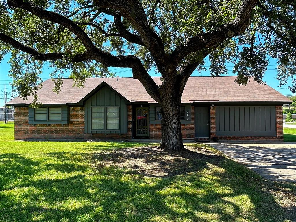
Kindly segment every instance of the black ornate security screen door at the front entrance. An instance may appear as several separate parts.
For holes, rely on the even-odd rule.
[[[136,136],[149,136],[148,108],[136,108]]]

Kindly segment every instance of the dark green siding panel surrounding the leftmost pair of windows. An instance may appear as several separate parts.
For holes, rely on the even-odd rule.
[[[28,108],[29,124],[67,124],[69,123],[69,111],[68,106],[42,106],[46,108],[47,120],[34,120],[34,109]],[[61,108],[61,120],[49,120],[48,108],[49,107],[60,107]]]

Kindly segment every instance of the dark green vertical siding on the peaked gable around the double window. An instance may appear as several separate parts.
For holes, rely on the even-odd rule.
[[[126,100],[109,87],[103,86],[85,105],[85,132],[91,134],[124,134],[127,133],[127,106]],[[91,107],[104,108],[104,130],[91,130]],[[106,130],[106,107],[119,107],[119,130]]]

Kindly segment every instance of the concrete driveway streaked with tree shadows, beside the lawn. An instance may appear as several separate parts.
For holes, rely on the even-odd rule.
[[[263,177],[296,182],[296,143],[209,143]]]

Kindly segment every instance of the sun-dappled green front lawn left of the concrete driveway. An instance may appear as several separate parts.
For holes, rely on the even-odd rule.
[[[277,203],[266,180],[206,145],[191,145],[205,151],[200,158],[171,155],[187,171],[173,172],[168,160],[163,164],[172,166],[171,172],[152,176],[133,166],[102,164],[102,154],[147,144],[14,141],[13,126],[0,123],[0,221],[295,219]],[[110,161],[121,163],[123,155]]]

